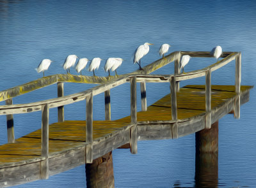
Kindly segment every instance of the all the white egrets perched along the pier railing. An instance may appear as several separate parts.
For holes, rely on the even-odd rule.
[[[148,54],[149,52],[149,46],[153,45],[150,43],[144,43],[144,45],[140,45],[140,47],[138,47],[134,53],[134,59],[133,62],[134,64],[137,63],[141,68],[141,58],[144,57],[145,55]],[[171,46],[168,44],[163,44],[161,45],[160,49],[159,49],[159,55],[163,55],[164,58],[164,54],[166,54],[169,50]],[[212,48],[211,51],[211,56],[215,57],[218,61],[218,58],[221,56],[222,54],[222,48],[220,46],[214,47]],[[74,66],[76,64],[76,61],[79,57],[77,57],[77,55],[68,55],[68,57],[66,58],[64,64],[63,64],[63,69],[67,70],[67,73],[70,74],[70,68],[72,66]],[[180,59],[180,69],[182,69],[182,73],[184,73],[184,66],[186,66],[186,64],[188,64],[190,59],[189,55],[182,55],[181,59]],[[103,59],[100,59],[99,57],[95,57],[92,59],[92,61],[90,62],[90,66],[89,66],[89,71],[93,71],[93,76],[95,76],[95,70],[99,69],[100,66],[100,61],[102,61]],[[76,64],[76,71],[77,73],[81,73],[81,71],[86,67],[86,65],[88,64],[90,60],[87,58],[81,58],[79,59],[79,61]],[[124,61],[124,59],[119,58],[119,57],[109,57],[106,61],[105,64],[105,71],[108,71],[109,76],[110,76],[110,71],[115,71],[116,73],[116,69],[118,67],[121,66],[122,62]],[[51,65],[51,61],[50,59],[43,59],[40,64],[38,65],[38,68],[36,68],[36,71],[38,73],[43,72],[44,75],[44,71],[46,71],[49,66]],[[82,75],[82,73],[81,73]]]

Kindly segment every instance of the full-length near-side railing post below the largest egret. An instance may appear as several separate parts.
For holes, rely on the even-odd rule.
[[[131,127],[131,153],[137,153],[137,104],[136,104],[136,76],[130,78],[131,86],[131,124],[134,126]]]

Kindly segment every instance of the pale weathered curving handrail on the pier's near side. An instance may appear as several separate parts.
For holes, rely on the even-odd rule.
[[[183,73],[180,75],[175,75],[175,81],[178,82],[181,80],[188,80],[192,78],[198,78],[200,76],[205,76],[205,72],[209,68],[211,68],[211,71],[215,71],[216,69],[219,69],[222,66],[225,66],[226,64],[228,64],[228,62],[236,59],[236,55],[239,54],[239,52],[232,52],[232,53],[228,52],[228,54],[229,55],[227,55],[227,57],[225,57],[224,59],[221,59],[220,61],[214,64],[211,64],[210,66],[207,66],[205,68],[198,69],[196,71],[190,71],[186,74]],[[114,78],[113,80],[106,82],[104,85],[103,84],[97,85],[91,89],[84,90],[82,92],[77,92],[75,94],[70,94],[68,96],[62,96],[59,98],[52,98],[52,99],[37,101],[33,103],[25,103],[25,104],[17,104],[17,105],[1,105],[0,115],[36,112],[36,111],[42,110],[42,105],[44,104],[49,104],[49,108],[56,108],[58,106],[69,105],[71,103],[75,103],[85,99],[86,96],[90,94],[90,92],[93,92],[93,96],[95,96],[108,89],[111,89],[118,85],[122,85],[125,82],[129,82],[129,78],[133,76],[137,77],[137,82],[141,82],[141,80],[145,80],[145,82],[159,82],[159,80],[162,80],[162,82],[169,82],[173,74],[172,75],[134,75],[134,73],[130,73],[127,75],[120,75],[117,78]],[[150,78],[150,80],[147,78]]]

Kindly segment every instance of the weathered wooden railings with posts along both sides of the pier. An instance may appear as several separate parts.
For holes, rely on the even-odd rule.
[[[180,74],[179,61],[182,55],[191,55],[191,57],[211,57],[210,52],[173,52],[167,55],[165,59],[159,59],[148,66],[145,66],[143,71],[134,71],[126,75],[113,76],[109,78],[105,77],[93,77],[93,76],[74,76],[74,75],[54,75],[49,78],[40,78],[39,80],[47,80],[47,82],[39,82],[38,80],[14,87],[9,90],[0,92],[2,100],[6,101],[6,105],[0,106],[0,115],[6,115],[7,127],[8,127],[8,142],[14,142],[13,131],[13,114],[15,113],[30,113],[36,111],[42,111],[42,157],[45,161],[42,163],[47,172],[47,158],[49,155],[49,108],[58,108],[58,122],[64,121],[64,108],[63,106],[76,103],[78,101],[86,101],[86,163],[92,163],[93,152],[93,96],[104,92],[105,97],[105,119],[111,120],[111,103],[110,103],[110,90],[114,87],[118,87],[126,82],[130,82],[131,87],[131,152],[136,154],[137,152],[137,140],[136,140],[136,125],[137,125],[137,104],[136,104],[136,82],[140,82],[141,89],[141,109],[147,111],[147,98],[146,98],[146,82],[170,82],[171,92],[171,106],[172,106],[172,120],[174,124],[177,124],[177,92],[179,92],[179,82],[182,80],[188,80],[192,78],[198,78],[205,76],[205,128],[211,128],[211,73],[216,69],[221,68],[228,64],[228,62],[236,59],[236,104],[234,106],[234,115],[239,118],[240,115],[240,85],[241,85],[241,52],[223,52],[220,61],[212,64],[203,69],[191,71],[188,73]],[[175,69],[173,75],[148,75],[152,71],[163,67],[164,65],[175,61]],[[49,81],[53,80],[53,81]],[[75,81],[74,81],[75,80]],[[90,81],[90,82],[89,82]],[[79,82],[79,83],[104,83],[97,85],[92,89],[84,90],[83,92],[77,92],[76,94],[70,94],[63,96],[63,82]],[[39,84],[40,83],[40,84]],[[35,103],[13,105],[12,98],[30,92],[53,83],[58,83],[58,98],[47,99],[44,101],[38,101]],[[22,88],[22,89],[20,89]],[[24,89],[24,88],[27,88]],[[19,90],[20,89],[20,90]],[[175,127],[175,126],[173,126]],[[47,173],[42,178],[47,178]]]

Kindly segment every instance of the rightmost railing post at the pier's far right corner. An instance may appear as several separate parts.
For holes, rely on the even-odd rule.
[[[241,87],[241,52],[236,55],[236,102],[234,117],[240,118],[240,87]]]

